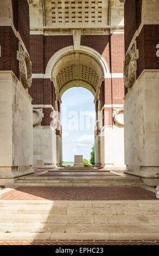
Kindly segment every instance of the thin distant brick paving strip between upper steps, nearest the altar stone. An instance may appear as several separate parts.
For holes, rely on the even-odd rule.
[[[92,172],[54,172],[54,173],[44,173],[44,174],[40,174],[40,177],[106,177],[106,176],[120,176],[117,174],[113,174],[113,173],[92,173]]]

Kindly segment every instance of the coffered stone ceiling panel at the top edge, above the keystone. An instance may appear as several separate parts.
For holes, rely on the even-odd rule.
[[[106,25],[107,0],[52,0],[52,24]]]

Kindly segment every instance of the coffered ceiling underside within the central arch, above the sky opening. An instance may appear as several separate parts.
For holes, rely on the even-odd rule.
[[[86,81],[96,90],[99,82],[99,76],[96,71],[86,65],[69,65],[62,69],[56,77],[56,83],[59,91],[63,85],[73,80]]]

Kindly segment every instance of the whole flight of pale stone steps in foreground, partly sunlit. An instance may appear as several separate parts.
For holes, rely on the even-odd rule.
[[[158,240],[158,200],[1,200],[0,239]]]

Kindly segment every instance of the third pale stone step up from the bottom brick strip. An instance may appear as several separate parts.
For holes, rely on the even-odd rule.
[[[39,212],[39,211],[38,211]],[[141,224],[141,223],[159,223],[159,216],[152,215],[63,215],[63,214],[46,214],[46,212],[39,214],[5,214],[0,213],[0,223],[66,223],[66,224]]]

